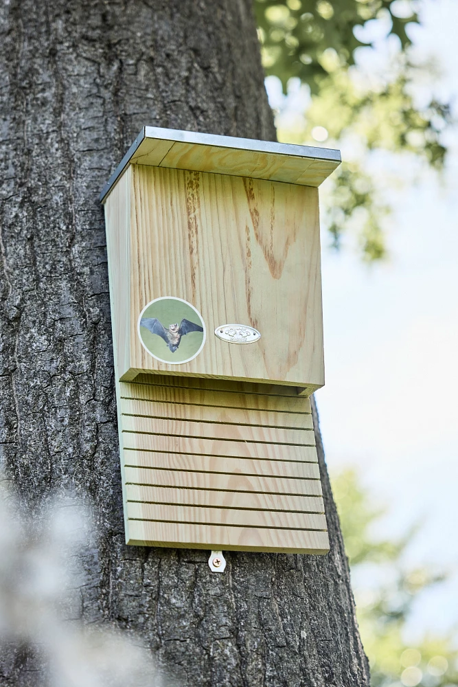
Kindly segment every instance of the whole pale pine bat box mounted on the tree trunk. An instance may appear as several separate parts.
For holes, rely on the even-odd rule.
[[[324,383],[316,187],[339,161],[145,127],[108,181],[128,543],[328,550],[307,396]]]

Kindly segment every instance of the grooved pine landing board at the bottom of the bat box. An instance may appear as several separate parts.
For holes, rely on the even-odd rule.
[[[117,383],[128,543],[327,552],[310,402],[266,387]]]

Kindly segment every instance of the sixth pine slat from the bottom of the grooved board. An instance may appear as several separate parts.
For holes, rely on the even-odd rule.
[[[312,435],[312,432],[310,432]],[[261,444],[225,439],[198,439],[183,436],[122,433],[124,448],[163,453],[198,453],[200,455],[233,455],[235,458],[273,458],[304,460],[304,447],[291,444]],[[314,441],[312,436],[310,442]]]

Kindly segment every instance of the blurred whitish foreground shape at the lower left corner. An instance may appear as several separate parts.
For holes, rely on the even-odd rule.
[[[23,663],[33,657],[27,684],[37,687],[165,687],[140,641],[75,618],[80,553],[95,543],[91,518],[76,499],[46,510],[28,519],[0,485],[0,651],[12,671],[0,682],[14,680],[22,654]]]

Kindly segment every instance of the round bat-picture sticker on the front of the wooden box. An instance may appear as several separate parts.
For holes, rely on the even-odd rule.
[[[181,365],[198,355],[205,343],[201,313],[181,298],[163,296],[148,303],[138,319],[144,348],[161,363]]]

